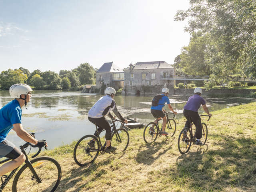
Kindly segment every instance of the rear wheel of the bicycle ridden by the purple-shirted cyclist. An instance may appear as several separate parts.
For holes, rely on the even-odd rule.
[[[191,134],[189,128],[184,128],[180,132],[179,138],[178,138],[178,149],[181,154],[184,154],[188,152],[191,146]]]

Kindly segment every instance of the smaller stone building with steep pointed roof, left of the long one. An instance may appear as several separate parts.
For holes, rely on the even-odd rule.
[[[116,90],[124,87],[124,71],[113,62],[104,63],[96,72],[96,88],[103,93],[106,87]]]

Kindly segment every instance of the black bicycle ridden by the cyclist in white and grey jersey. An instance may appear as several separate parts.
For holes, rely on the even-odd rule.
[[[111,131],[110,144],[111,146],[116,147],[115,153],[120,151],[125,151],[126,148],[128,147],[129,140],[130,140],[128,131],[125,128],[122,128],[124,126],[122,122],[121,122],[122,126],[120,126],[119,129],[116,129],[115,122],[117,121],[121,122],[120,120],[117,120],[117,119],[112,120],[112,122],[110,122],[110,124],[112,124],[110,127],[113,127]],[[106,152],[106,142],[102,146],[102,143],[100,141],[100,133],[103,132],[104,130],[99,132],[98,126],[96,126],[96,131],[97,131],[96,136],[94,135],[83,136],[76,143],[73,156],[76,164],[78,164],[81,167],[87,166],[88,164],[94,162],[99,152],[101,154],[104,154]],[[91,140],[95,141],[95,146],[90,146]]]

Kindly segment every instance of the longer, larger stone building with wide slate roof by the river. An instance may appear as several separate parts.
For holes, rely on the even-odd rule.
[[[124,91],[122,94],[152,95],[167,87],[173,93],[175,69],[165,61],[137,62],[124,68]]]

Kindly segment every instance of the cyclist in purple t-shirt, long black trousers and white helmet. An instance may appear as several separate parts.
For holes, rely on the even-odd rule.
[[[201,118],[198,114],[198,109],[200,108],[200,106],[202,105],[204,111],[210,117],[212,117],[212,114],[209,113],[209,110],[206,107],[206,102],[201,97],[201,94],[202,94],[202,88],[196,87],[194,90],[194,95],[188,98],[188,102],[184,106],[184,110],[183,110],[183,115],[187,119],[185,127],[189,128],[190,118],[196,126],[196,134],[195,134],[196,141],[194,142],[194,144],[197,144],[197,145],[202,145],[202,142],[200,141],[200,139],[202,138],[202,124],[201,124]]]

